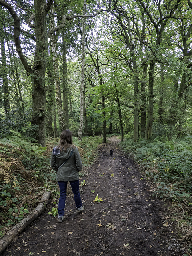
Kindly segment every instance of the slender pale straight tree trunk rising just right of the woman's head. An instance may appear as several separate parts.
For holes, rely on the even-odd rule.
[[[86,13],[86,0],[83,3],[83,14]],[[81,87],[80,87],[80,126],[78,140],[82,140],[83,114],[84,114],[84,74],[85,74],[85,18],[82,23],[82,64],[81,64]]]

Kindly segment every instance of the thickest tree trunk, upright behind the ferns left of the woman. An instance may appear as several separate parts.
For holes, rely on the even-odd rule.
[[[36,47],[32,77],[32,124],[38,125],[38,142],[44,147],[46,136],[45,71],[48,55],[46,0],[34,0]]]

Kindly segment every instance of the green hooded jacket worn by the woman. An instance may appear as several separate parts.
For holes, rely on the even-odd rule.
[[[59,154],[57,154],[57,151],[58,150],[52,151],[51,162],[50,162],[52,169],[57,171],[56,180],[57,181],[78,180],[79,179],[78,172],[82,169],[82,161],[81,161],[78,148],[75,147],[75,149],[73,149],[72,147],[70,147],[67,149],[67,152],[59,151]],[[74,152],[71,154],[71,151],[74,151]],[[66,159],[68,159],[66,163],[63,166],[61,166]],[[59,168],[59,166],[61,167]]]

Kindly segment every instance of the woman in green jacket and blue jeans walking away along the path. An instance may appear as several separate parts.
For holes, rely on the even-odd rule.
[[[70,130],[64,130],[61,133],[58,146],[53,148],[51,155],[51,167],[57,171],[56,180],[59,183],[60,192],[58,222],[62,222],[64,219],[68,181],[74,194],[76,213],[84,210],[79,193],[78,173],[82,169],[82,162],[78,148],[72,143],[72,132]]]

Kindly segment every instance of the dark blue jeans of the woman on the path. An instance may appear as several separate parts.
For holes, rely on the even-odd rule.
[[[65,213],[65,200],[67,196],[67,181],[58,181],[58,183],[60,192],[58,214],[59,216],[63,216]],[[79,180],[70,181],[70,185],[74,194],[76,207],[81,207],[82,202],[79,193]]]

